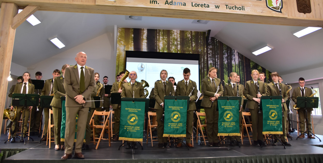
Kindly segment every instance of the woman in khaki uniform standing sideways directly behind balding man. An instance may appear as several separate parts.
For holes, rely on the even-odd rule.
[[[62,102],[60,97],[65,97],[65,89],[64,89],[64,76],[65,69],[69,67],[69,64],[65,64],[62,67],[62,76],[55,77],[53,83],[53,92],[54,97],[50,106],[53,109],[53,121],[54,121],[54,138],[55,138],[55,150],[64,150],[64,142],[60,141],[60,129],[62,124]]]

